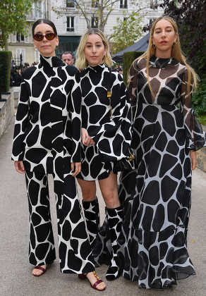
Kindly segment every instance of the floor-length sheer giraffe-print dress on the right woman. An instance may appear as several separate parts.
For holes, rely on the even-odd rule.
[[[119,198],[125,207],[119,243],[123,277],[139,288],[164,288],[195,274],[186,247],[190,214],[190,149],[200,149],[205,135],[186,94],[186,66],[174,58],[150,58],[131,67],[132,147],[138,168],[121,173]],[[181,104],[181,111],[176,106]]]

